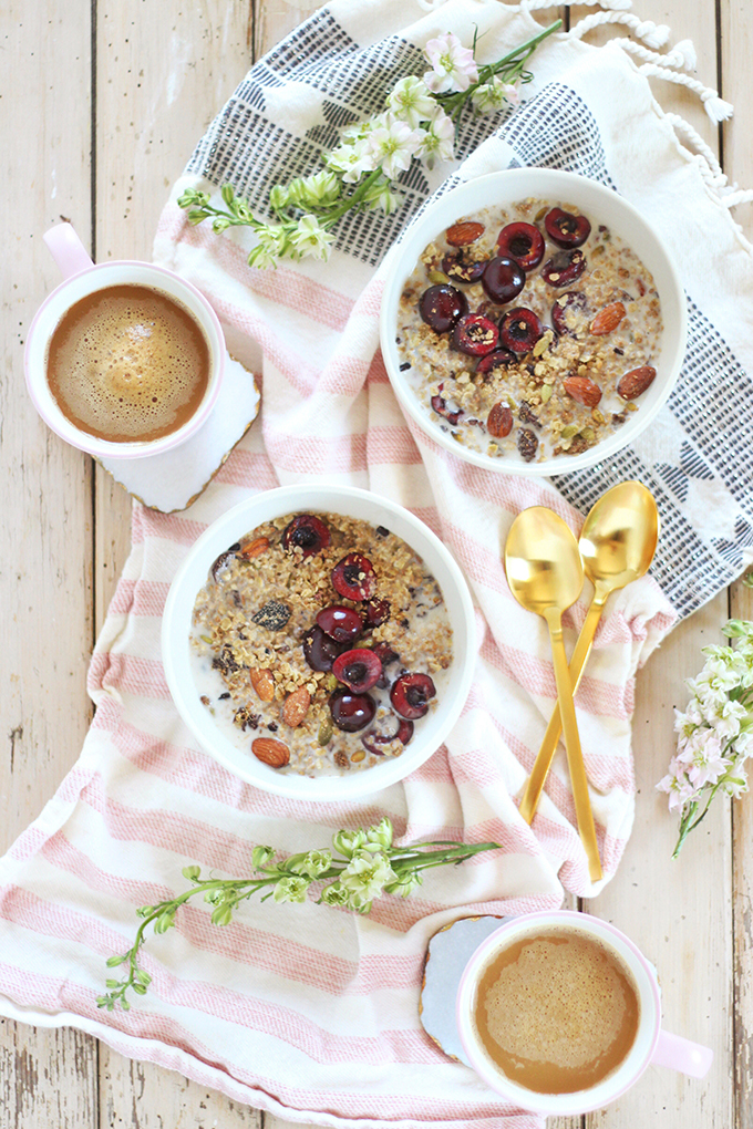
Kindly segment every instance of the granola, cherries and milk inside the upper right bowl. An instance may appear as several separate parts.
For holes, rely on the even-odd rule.
[[[528,199],[461,218],[424,248],[396,342],[414,394],[458,443],[542,462],[639,410],[662,329],[654,279],[619,236]]]

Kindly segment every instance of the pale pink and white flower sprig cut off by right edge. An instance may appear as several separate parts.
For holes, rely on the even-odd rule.
[[[717,793],[736,798],[747,791],[744,763],[753,753],[753,622],[729,620],[724,628],[737,646],[702,647],[706,665],[686,681],[691,699],[675,710],[677,750],[656,786],[680,813],[673,858],[697,828]]]

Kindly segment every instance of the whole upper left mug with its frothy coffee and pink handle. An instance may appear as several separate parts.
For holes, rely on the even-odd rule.
[[[186,279],[152,263],[95,264],[70,224],[44,235],[64,279],[24,350],[43,420],[97,458],[159,455],[209,420],[225,368],[217,314]]]

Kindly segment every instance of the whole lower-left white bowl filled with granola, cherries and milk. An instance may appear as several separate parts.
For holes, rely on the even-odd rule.
[[[240,502],[192,546],[163,618],[178,714],[249,784],[332,800],[443,743],[475,657],[455,560],[409,510],[348,487]]]

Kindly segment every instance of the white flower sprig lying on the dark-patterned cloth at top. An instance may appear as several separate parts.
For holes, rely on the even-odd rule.
[[[272,220],[255,217],[230,184],[220,189],[225,207],[212,204],[211,195],[200,189],[186,189],[178,205],[187,210],[191,224],[211,219],[218,234],[229,227],[252,228],[256,243],[249,266],[274,266],[281,259],[326,260],[332,228],[345,212],[379,209],[389,215],[400,204],[393,182],[412,160],[432,168],[452,159],[465,105],[476,114],[517,105],[519,84],[533,78],[525,69],[527,60],[561,26],[555,20],[504,59],[483,65],[475,60],[475,34],[471,47],[452,32],[430,40],[424,47],[429,69],[422,77],[401,78],[387,94],[383,113],[343,130],[338,148],[323,154],[322,170],[274,185]]]

